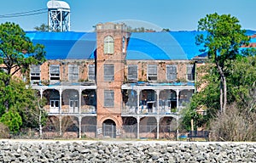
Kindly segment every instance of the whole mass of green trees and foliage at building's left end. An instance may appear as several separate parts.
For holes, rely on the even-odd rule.
[[[38,95],[15,75],[26,76],[30,65],[44,63],[44,55],[44,46],[34,45],[19,25],[0,25],[0,121],[12,132],[38,126]]]

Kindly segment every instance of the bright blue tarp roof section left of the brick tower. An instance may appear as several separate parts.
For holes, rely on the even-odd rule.
[[[95,32],[26,32],[33,43],[44,45],[46,59],[94,59]]]

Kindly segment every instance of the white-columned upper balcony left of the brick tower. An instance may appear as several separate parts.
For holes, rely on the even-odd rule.
[[[32,85],[47,99],[48,115],[96,115],[96,84],[93,82],[49,82]]]

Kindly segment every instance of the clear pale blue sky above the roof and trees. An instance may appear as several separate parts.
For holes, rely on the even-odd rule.
[[[0,23],[11,21],[25,31],[47,24],[43,14],[3,18],[6,14],[47,8],[48,0],[1,0]],[[99,22],[121,21],[138,27],[158,30],[196,30],[197,22],[206,14],[231,14],[240,20],[242,28],[256,30],[255,0],[65,0],[71,7],[71,31],[92,31]]]

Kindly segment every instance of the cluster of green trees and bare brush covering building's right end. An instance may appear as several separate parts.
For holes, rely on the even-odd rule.
[[[193,119],[196,126],[207,125],[218,137],[217,140],[220,137],[230,141],[241,140],[234,134],[234,137],[230,135],[238,130],[232,125],[250,126],[248,130],[251,131],[251,122],[255,119],[255,50],[247,46],[249,37],[238,23],[230,14],[207,14],[198,25],[200,31],[207,31],[207,36],[197,36],[196,43],[204,45],[202,50],[208,52],[209,59],[207,64],[197,67],[197,74],[201,76],[197,76],[196,86],[200,87],[200,91],[193,94],[190,104],[183,111],[182,124],[190,129],[190,120]],[[201,115],[197,110],[204,110],[206,114]],[[231,116],[244,121],[235,123],[228,118]],[[229,130],[223,130],[222,126]]]

